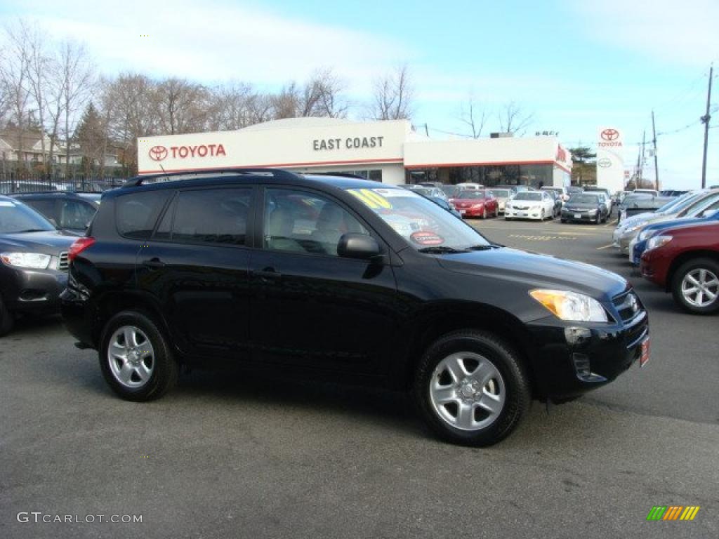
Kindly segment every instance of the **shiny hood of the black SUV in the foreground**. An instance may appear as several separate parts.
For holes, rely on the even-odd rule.
[[[628,287],[623,277],[599,267],[508,247],[441,255],[437,259],[451,272],[521,282],[527,289],[571,290],[600,300],[610,300]]]

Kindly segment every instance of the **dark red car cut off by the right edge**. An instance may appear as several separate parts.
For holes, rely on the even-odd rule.
[[[719,310],[719,223],[664,229],[647,242],[641,275],[672,292],[684,310]]]

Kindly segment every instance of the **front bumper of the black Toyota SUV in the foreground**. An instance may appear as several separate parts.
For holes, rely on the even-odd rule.
[[[528,326],[536,344],[537,396],[554,402],[612,382],[640,358],[649,338],[646,310],[623,323],[562,324],[552,317]]]

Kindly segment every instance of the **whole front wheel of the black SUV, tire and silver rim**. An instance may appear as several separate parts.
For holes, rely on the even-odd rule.
[[[413,394],[434,433],[467,446],[503,440],[531,402],[516,351],[493,333],[472,330],[450,333],[426,351]]]

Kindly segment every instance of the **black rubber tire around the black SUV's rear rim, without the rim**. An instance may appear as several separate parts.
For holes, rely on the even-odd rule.
[[[152,374],[147,379],[147,382],[142,383],[139,387],[127,387],[116,377],[111,368],[111,361],[117,360],[111,359],[109,353],[110,341],[115,336],[116,331],[123,327],[139,329],[139,332],[144,333],[151,345],[152,361],[150,364],[152,365]],[[144,342],[138,346],[142,346],[142,344]],[[178,379],[178,364],[173,357],[172,351],[170,351],[167,338],[162,334],[157,324],[152,321],[152,318],[139,311],[122,311],[114,315],[106,323],[100,339],[98,355],[105,381],[116,395],[125,400],[140,402],[160,398],[175,385]]]

